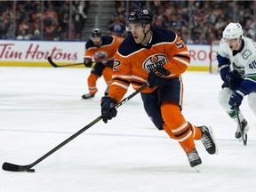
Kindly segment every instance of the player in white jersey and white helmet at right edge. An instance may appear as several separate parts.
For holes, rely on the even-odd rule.
[[[256,44],[243,36],[243,28],[239,23],[231,22],[224,29],[217,60],[224,82],[219,95],[220,105],[236,121],[235,137],[242,140],[249,130],[239,108],[245,95],[248,95],[249,106],[256,116]]]

